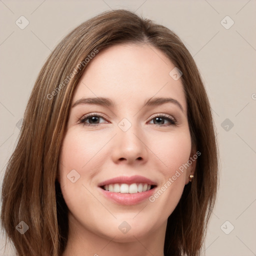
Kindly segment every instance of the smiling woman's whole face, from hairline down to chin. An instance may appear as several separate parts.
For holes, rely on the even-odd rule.
[[[58,173],[69,228],[77,234],[132,241],[165,232],[195,165],[187,164],[194,151],[174,67],[146,44],[111,46],[87,64],[72,98]]]

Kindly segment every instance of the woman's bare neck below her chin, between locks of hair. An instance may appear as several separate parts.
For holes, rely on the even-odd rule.
[[[90,231],[81,226],[70,212],[68,213],[68,239],[62,256],[163,256],[166,223],[145,234],[116,233],[109,237],[103,233]]]

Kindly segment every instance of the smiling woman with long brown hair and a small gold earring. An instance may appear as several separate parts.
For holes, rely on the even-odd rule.
[[[38,75],[3,180],[2,226],[20,256],[199,255],[217,155],[181,40],[107,11],[71,31]]]

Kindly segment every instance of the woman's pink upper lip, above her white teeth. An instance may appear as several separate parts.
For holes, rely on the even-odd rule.
[[[156,183],[149,178],[146,178],[140,175],[134,175],[134,176],[119,176],[115,178],[110,178],[100,182],[98,186],[114,184],[114,183],[125,183],[125,184],[147,183],[148,185],[156,185]]]

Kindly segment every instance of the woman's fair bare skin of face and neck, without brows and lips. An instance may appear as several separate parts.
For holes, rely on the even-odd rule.
[[[166,183],[195,154],[187,120],[181,79],[169,75],[172,62],[147,44],[118,44],[100,51],[88,63],[77,84],[72,104],[82,97],[108,97],[116,105],[78,104],[69,111],[60,153],[58,181],[69,209],[69,234],[62,256],[163,255],[167,218],[176,207],[196,160],[158,197],[135,205],[121,205],[104,197],[97,185],[116,176],[142,175]],[[176,99],[174,103],[144,106],[150,97]],[[79,123],[85,114],[98,117],[94,126]],[[172,116],[156,121],[158,114]],[[126,118],[127,131],[118,123]],[[157,125],[158,124],[158,125]],[[168,125],[169,124],[169,125]],[[161,126],[159,126],[161,125]],[[67,174],[80,178],[72,183]],[[118,226],[126,221],[127,233]]]

